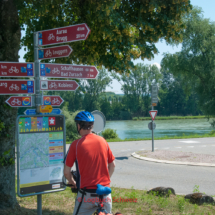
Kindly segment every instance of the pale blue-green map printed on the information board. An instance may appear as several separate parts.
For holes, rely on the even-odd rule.
[[[20,169],[49,166],[49,133],[19,134]]]

